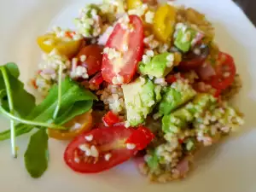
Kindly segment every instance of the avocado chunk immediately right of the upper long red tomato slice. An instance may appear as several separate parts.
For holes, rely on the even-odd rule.
[[[172,71],[174,67],[174,54],[173,53],[163,53],[160,55],[155,55],[151,61],[144,63],[139,62],[138,71],[143,75],[154,76],[155,78],[163,78],[166,74]]]

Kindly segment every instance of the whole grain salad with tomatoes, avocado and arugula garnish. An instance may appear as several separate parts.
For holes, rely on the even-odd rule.
[[[214,42],[214,28],[195,9],[154,0],[88,4],[75,30],[55,26],[39,36],[43,51],[24,89],[15,63],[0,67],[1,113],[10,129],[0,140],[33,131],[26,170],[48,167],[49,137],[67,140],[75,172],[103,172],[131,158],[151,181],[186,177],[193,157],[243,124],[230,106],[241,88],[233,57]]]

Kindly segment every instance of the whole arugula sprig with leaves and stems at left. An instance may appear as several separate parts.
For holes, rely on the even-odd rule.
[[[11,137],[12,152],[15,151],[15,137],[26,134],[37,127],[24,155],[26,170],[32,177],[40,177],[48,167],[48,135],[46,128],[67,130],[63,127],[70,119],[86,113],[97,97],[72,79],[61,80],[52,86],[43,102],[35,105],[34,97],[26,92],[18,77],[18,67],[9,63],[0,67],[0,113],[11,121],[11,128],[0,133],[0,141]],[[14,122],[19,122],[15,125]]]

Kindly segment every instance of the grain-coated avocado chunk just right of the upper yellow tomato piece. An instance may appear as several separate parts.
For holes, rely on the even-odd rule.
[[[183,23],[178,23],[175,34],[177,37],[174,40],[174,45],[183,52],[188,52],[195,42],[198,32]]]

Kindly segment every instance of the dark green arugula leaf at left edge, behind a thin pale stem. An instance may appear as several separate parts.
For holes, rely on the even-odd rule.
[[[24,84],[18,79],[20,72],[15,63],[7,63],[2,67],[5,68],[9,78],[15,113],[18,113],[21,117],[26,117],[26,115],[31,112],[32,108],[35,107],[35,97],[24,89]],[[5,89],[3,74],[0,73],[0,91]],[[9,110],[7,96],[2,95],[0,99],[3,108]]]

